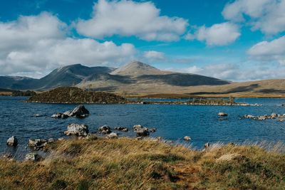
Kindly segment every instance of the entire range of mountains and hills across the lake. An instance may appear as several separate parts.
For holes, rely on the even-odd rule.
[[[126,95],[285,97],[285,80],[232,83],[204,75],[159,70],[139,61],[120,68],[87,67],[81,64],[57,68],[40,79],[0,76],[0,88],[50,90],[85,88]]]

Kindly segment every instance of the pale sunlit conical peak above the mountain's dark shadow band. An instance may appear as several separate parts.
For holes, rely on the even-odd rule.
[[[159,70],[155,67],[152,67],[151,65],[136,60],[114,70],[111,74],[138,76],[138,75],[162,75],[165,73],[167,72]]]

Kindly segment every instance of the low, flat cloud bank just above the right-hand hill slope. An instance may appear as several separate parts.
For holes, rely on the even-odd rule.
[[[276,67],[273,65],[268,65],[267,67],[261,65],[252,65],[251,67],[245,69],[244,65],[221,63],[201,67],[194,65],[180,71],[232,81],[265,80],[269,78],[285,77],[285,67]]]

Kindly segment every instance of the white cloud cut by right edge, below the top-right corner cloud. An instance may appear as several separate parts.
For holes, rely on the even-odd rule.
[[[285,36],[277,38],[273,41],[261,41],[252,48],[249,48],[247,53],[253,58],[259,60],[277,60],[283,64],[285,60]]]

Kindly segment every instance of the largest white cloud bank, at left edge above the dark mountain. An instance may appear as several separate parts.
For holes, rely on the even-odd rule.
[[[66,28],[66,23],[46,12],[1,22],[0,75],[40,76],[58,66],[113,65],[135,55],[135,47],[130,43],[118,46],[112,41],[99,43],[90,38],[70,38]],[[35,73],[38,70],[42,73]]]

